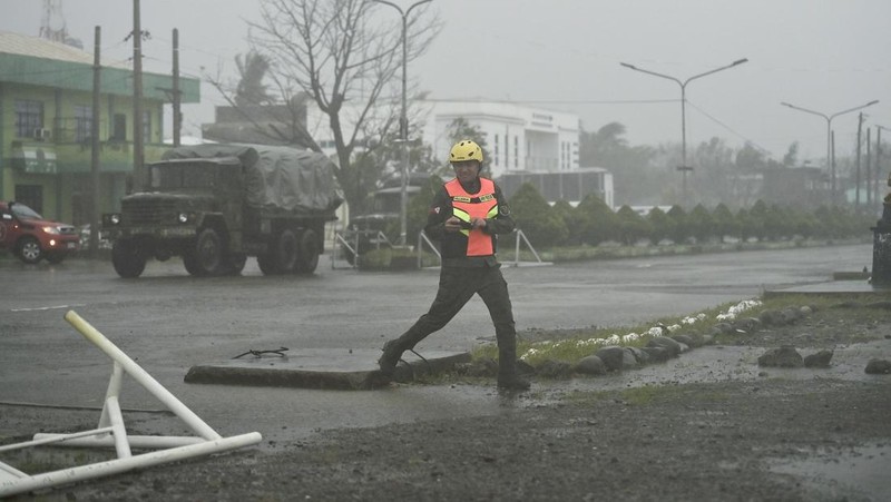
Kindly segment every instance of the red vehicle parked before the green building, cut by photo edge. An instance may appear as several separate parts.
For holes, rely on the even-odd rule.
[[[43,218],[21,203],[0,201],[0,249],[9,249],[27,264],[41,259],[60,263],[80,248],[74,225]]]

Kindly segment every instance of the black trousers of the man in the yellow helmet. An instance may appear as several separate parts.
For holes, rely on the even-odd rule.
[[[498,345],[513,347],[517,331],[508,295],[508,284],[501,275],[499,266],[486,266],[442,267],[439,276],[439,291],[430,311],[399,337],[401,348],[414,348],[414,345],[428,335],[449,324],[449,321],[467,305],[474,294],[480,295],[489,309]]]

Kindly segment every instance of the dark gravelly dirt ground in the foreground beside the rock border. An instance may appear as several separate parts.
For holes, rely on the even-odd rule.
[[[804,354],[833,350],[839,360],[822,371],[757,367],[763,350],[790,344]],[[490,416],[332,430],[274,452],[244,450],[38,496],[881,500],[891,482],[863,473],[891,470],[891,375],[863,368],[890,345],[888,309],[822,305],[782,326],[721,335],[662,366],[662,380],[647,367],[537,380],[529,393],[493,393],[500,409]],[[647,372],[653,378],[642,377]]]

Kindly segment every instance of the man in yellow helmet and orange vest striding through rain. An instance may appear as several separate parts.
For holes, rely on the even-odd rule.
[[[389,378],[402,353],[414,348],[428,335],[439,331],[473,297],[479,295],[489,309],[498,341],[498,386],[529,388],[517,374],[517,332],[508,295],[508,285],[496,258],[497,234],[513,232],[501,189],[480,177],[482,149],[471,140],[456,144],[449,161],[456,178],[446,183],[433,198],[424,232],[440,242],[442,269],[439,291],[430,311],[402,336],[386,342],[378,364]]]

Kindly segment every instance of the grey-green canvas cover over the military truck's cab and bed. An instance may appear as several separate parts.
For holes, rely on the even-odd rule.
[[[265,145],[195,145],[164,160],[236,158],[244,166],[247,204],[263,209],[330,213],[343,203],[334,163],[323,154]]]

